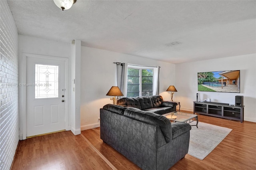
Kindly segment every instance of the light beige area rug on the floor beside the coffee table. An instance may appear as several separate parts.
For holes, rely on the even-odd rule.
[[[194,123],[192,122],[191,125]],[[198,128],[192,126],[190,130],[188,154],[203,160],[231,130],[230,128],[199,122]]]

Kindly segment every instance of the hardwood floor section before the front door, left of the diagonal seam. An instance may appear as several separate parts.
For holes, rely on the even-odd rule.
[[[111,170],[81,135],[58,132],[20,140],[12,170]]]

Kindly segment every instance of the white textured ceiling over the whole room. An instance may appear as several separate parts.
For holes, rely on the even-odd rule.
[[[255,0],[77,0],[65,11],[53,0],[7,2],[23,35],[170,63],[256,53]]]

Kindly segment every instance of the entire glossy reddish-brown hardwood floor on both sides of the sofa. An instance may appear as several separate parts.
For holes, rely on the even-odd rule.
[[[255,170],[256,169],[256,123],[226,120],[198,115],[199,122],[210,123],[233,130],[204,160],[186,155],[170,170]],[[119,154],[100,139],[100,128],[72,132],[58,132],[21,140],[18,144],[12,170],[108,170],[112,169],[90,144],[85,136],[118,170],[137,170],[138,166]]]

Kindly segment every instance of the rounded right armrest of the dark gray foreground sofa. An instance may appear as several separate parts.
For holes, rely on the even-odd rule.
[[[191,126],[188,123],[175,122],[172,123],[172,139],[191,130]]]

